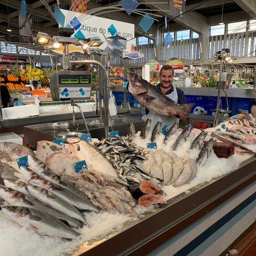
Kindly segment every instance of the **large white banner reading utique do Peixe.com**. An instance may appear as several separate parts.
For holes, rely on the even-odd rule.
[[[63,9],[61,9],[61,12],[65,15],[65,27],[74,28],[75,30],[72,35],[73,37],[90,38],[92,36],[99,36],[100,40],[104,42],[104,44],[100,45],[100,49],[105,49],[109,41],[107,42],[104,36],[106,36],[106,38],[111,36],[109,27],[113,25],[116,29],[116,36],[122,36],[127,39],[125,51],[131,51],[134,43],[134,41],[131,40],[134,38],[134,24],[78,12],[70,12]]]

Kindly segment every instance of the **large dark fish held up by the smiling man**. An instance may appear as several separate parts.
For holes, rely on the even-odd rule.
[[[130,73],[130,82],[128,90],[137,99],[142,106],[153,113],[163,116],[179,116],[186,119],[189,112],[195,104],[176,104],[169,99],[164,93],[159,92],[154,86],[137,74]]]

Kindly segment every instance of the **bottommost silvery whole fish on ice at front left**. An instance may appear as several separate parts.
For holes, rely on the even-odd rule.
[[[40,234],[65,239],[77,239],[79,234],[53,216],[24,207],[3,207],[4,214],[22,227]]]

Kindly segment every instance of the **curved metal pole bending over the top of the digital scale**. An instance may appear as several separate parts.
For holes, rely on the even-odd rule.
[[[100,83],[100,87],[103,88],[103,100],[104,100],[104,131],[105,131],[105,138],[108,138],[109,132],[109,117],[108,117],[108,77],[106,74],[106,68],[96,60],[77,60],[77,61],[70,61],[70,63],[79,64],[79,63],[86,63],[86,64],[93,64],[98,66],[102,70],[103,81]]]

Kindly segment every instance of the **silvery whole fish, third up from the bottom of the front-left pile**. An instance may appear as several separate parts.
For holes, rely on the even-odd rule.
[[[82,221],[85,223],[84,216],[79,212],[76,207],[73,205],[68,204],[67,201],[58,198],[57,196],[52,195],[46,189],[28,185],[28,191],[33,195],[38,201],[46,204],[53,209],[63,212],[67,216],[70,216],[76,220]]]

